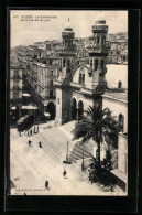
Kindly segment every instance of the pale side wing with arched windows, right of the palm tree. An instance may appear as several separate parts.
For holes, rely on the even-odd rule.
[[[109,108],[112,116],[122,125],[118,135],[118,161],[111,173],[117,178],[117,193],[127,194],[128,186],[128,96],[127,93],[107,90],[102,95],[103,108]],[[112,153],[112,150],[111,150]]]

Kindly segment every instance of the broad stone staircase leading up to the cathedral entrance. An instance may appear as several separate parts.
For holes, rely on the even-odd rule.
[[[41,141],[44,141],[62,160],[66,159],[67,142],[70,161],[74,162],[83,159],[83,151],[84,159],[90,158],[90,154],[92,154],[91,142],[80,144],[80,141],[73,140],[72,130],[75,128],[75,122],[76,121],[70,121],[61,127],[44,129],[44,131],[37,133],[37,137]]]

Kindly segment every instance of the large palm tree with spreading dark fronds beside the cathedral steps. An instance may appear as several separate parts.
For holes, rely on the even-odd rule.
[[[102,110],[101,105],[89,106],[87,117],[76,122],[73,130],[74,140],[81,138],[81,144],[87,143],[91,138],[97,143],[98,163],[100,164],[100,143],[102,136],[107,133],[110,138],[117,139],[121,130],[120,125],[111,116],[109,108]]]

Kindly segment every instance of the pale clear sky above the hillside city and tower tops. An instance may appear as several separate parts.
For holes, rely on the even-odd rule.
[[[33,21],[26,15],[31,15]],[[35,15],[39,21],[35,21]],[[99,18],[106,20],[109,26],[108,33],[128,32],[128,11],[11,10],[11,47],[32,45],[47,40],[62,40],[62,32],[68,18],[76,37],[91,36],[91,28]]]

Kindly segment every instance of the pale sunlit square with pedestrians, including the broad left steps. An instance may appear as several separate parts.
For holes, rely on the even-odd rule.
[[[24,133],[20,137],[15,128],[10,129],[10,179],[15,185],[12,195],[116,195],[116,192],[105,192],[97,184],[90,184],[81,171],[81,160],[63,163],[66,142],[73,138],[69,130],[74,122],[69,123],[55,128],[54,121],[40,125],[40,132],[31,137]],[[50,189],[45,189],[46,180]]]

